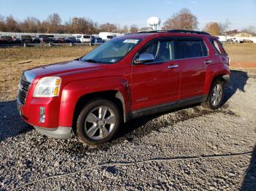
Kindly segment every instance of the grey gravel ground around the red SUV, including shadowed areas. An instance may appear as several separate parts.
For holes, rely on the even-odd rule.
[[[232,81],[221,109],[141,117],[102,147],[42,136],[0,102],[0,190],[256,190],[256,76]]]

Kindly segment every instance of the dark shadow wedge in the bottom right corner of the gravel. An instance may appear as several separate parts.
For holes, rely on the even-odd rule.
[[[252,152],[252,158],[249,167],[244,175],[243,183],[241,184],[241,191],[256,190],[256,145]]]

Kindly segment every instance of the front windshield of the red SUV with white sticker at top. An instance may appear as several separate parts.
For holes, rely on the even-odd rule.
[[[124,58],[137,44],[140,39],[112,39],[89,52],[81,61],[93,63],[116,63]]]

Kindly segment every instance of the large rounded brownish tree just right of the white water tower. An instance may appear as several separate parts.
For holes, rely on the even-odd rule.
[[[197,17],[189,9],[181,9],[178,13],[168,18],[163,29],[186,29],[195,30],[198,26]]]

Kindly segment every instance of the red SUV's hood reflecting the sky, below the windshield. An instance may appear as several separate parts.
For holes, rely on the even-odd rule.
[[[87,63],[84,61],[69,61],[64,63],[54,63],[46,66],[39,66],[34,69],[30,69],[32,73],[37,77],[44,76],[61,76],[61,74],[79,71],[79,70],[95,70],[101,69],[103,64],[98,63]]]

